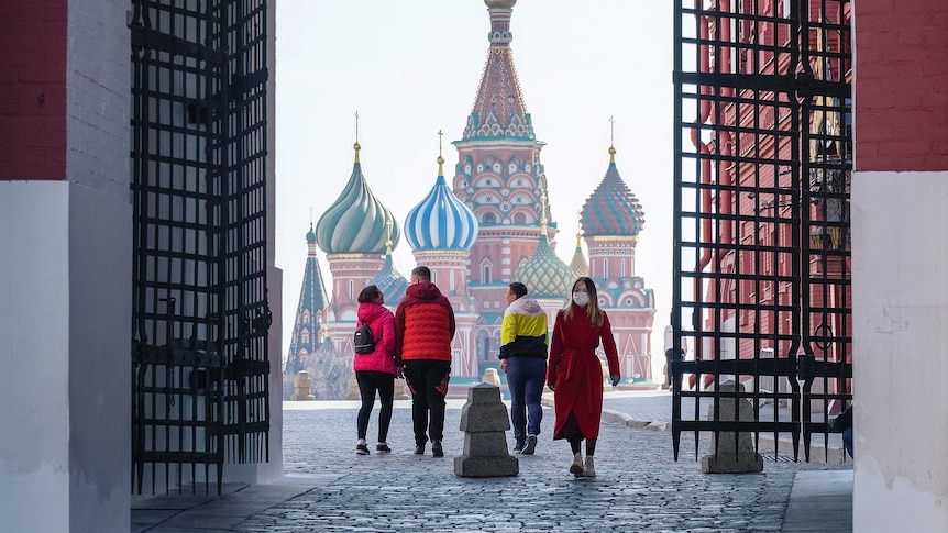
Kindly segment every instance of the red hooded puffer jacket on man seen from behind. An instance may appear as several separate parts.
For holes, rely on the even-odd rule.
[[[408,286],[395,311],[395,337],[398,360],[451,360],[454,310],[434,284]]]

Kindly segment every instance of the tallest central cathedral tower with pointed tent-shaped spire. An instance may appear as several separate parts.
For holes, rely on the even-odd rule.
[[[469,290],[481,314],[476,351],[482,364],[494,362],[499,351],[507,286],[537,249],[544,214],[540,195],[547,189],[540,164],[543,143],[533,134],[510,52],[510,15],[517,2],[484,3],[490,16],[487,64],[462,138],[453,143],[454,193],[481,225],[471,248]],[[554,237],[555,224],[548,232]]]

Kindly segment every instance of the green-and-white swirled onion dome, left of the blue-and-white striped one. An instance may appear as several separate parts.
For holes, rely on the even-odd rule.
[[[388,238],[386,222],[395,216],[375,198],[359,162],[359,142],[353,145],[355,163],[352,176],[335,202],[322,213],[316,224],[319,247],[327,254],[375,254],[385,253]],[[395,224],[392,242],[398,243],[400,236]]]

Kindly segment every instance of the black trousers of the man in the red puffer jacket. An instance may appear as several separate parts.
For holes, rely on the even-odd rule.
[[[444,396],[450,375],[451,363],[447,360],[405,362],[405,381],[411,390],[411,423],[418,446],[425,445],[429,436],[432,442],[444,440]]]

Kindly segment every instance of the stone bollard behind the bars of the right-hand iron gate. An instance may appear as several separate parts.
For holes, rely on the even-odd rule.
[[[743,385],[726,384],[719,386],[720,392],[743,392]],[[753,420],[750,400],[720,398],[720,420]],[[708,408],[708,420],[714,420],[714,406]],[[736,433],[721,431],[720,438],[712,434],[710,454],[702,457],[702,471],[705,474],[746,474],[763,471],[763,457],[753,449],[750,432]]]

